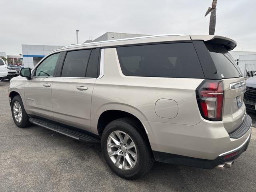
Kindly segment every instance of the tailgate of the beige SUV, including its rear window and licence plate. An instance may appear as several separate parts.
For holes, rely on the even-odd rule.
[[[220,74],[224,84],[224,106],[222,120],[228,133],[232,132],[242,123],[246,112],[243,103],[246,90],[245,79],[242,72],[234,62],[230,53],[217,44],[208,44],[206,47]]]

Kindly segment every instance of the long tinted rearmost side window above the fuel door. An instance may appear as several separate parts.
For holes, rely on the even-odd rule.
[[[192,43],[116,48],[126,76],[204,78]]]

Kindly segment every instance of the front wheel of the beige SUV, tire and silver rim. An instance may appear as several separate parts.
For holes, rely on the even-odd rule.
[[[17,111],[18,109],[18,111]],[[26,128],[31,125],[29,121],[29,116],[24,109],[21,97],[19,95],[15,96],[11,102],[12,118],[16,126],[20,128]],[[21,115],[20,115],[21,114]],[[18,116],[18,118],[17,118]],[[21,117],[21,118],[20,118]]]

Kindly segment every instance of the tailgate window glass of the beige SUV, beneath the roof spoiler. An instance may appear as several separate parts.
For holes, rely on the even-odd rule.
[[[216,44],[207,43],[206,47],[208,48],[212,60],[216,65],[217,72],[223,79],[243,76],[242,72],[236,65],[236,62],[225,48]]]

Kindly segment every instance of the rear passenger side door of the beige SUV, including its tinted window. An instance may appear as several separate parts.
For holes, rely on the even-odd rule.
[[[90,131],[91,100],[98,74],[99,49],[64,53],[52,86],[54,119]]]

